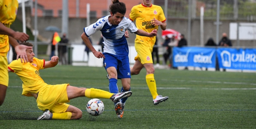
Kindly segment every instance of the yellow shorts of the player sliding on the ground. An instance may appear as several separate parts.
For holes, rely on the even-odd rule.
[[[66,112],[69,105],[67,94],[67,86],[69,84],[48,85],[41,89],[37,97],[37,106],[40,110],[49,109],[52,113]]]

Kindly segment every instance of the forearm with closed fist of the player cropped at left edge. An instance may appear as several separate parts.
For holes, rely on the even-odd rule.
[[[22,42],[27,41],[29,38],[29,35],[23,32],[15,32],[14,30],[4,26],[3,24],[0,24],[0,34],[11,36],[16,40],[19,40]]]

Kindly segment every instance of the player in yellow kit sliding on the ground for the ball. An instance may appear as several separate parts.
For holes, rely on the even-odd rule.
[[[29,42],[21,43],[32,47]],[[38,117],[43,119],[80,119],[82,111],[72,105],[66,104],[70,99],[86,96],[88,98],[108,98],[118,102],[121,98],[131,96],[132,92],[110,93],[94,88],[78,88],[69,84],[48,85],[40,77],[39,70],[55,67],[59,57],[53,56],[50,61],[34,57],[33,49],[26,50],[28,62],[20,59],[12,61],[8,65],[8,72],[16,73],[23,81],[22,95],[33,96],[37,99],[37,106],[44,113]]]

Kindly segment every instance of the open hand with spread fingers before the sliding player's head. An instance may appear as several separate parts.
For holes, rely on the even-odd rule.
[[[17,45],[15,47],[15,52],[17,54],[17,57],[16,59],[19,59],[21,60],[21,62],[24,62],[25,63],[25,60],[28,62],[28,57],[27,57],[27,53],[26,53],[26,50],[27,49],[32,49],[33,47],[28,47],[26,45]]]

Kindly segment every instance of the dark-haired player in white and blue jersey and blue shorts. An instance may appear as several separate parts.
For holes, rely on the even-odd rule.
[[[110,14],[100,18],[97,22],[84,28],[84,33],[81,35],[86,46],[93,52],[97,58],[104,58],[104,68],[109,74],[109,90],[111,93],[118,93],[117,79],[122,81],[122,89],[120,92],[130,91],[130,64],[129,64],[129,49],[125,38],[126,30],[130,33],[135,33],[140,36],[154,37],[157,35],[156,30],[145,32],[133,24],[133,22],[124,17],[126,13],[125,3],[113,0],[110,5]],[[103,53],[95,50],[89,41],[89,36],[97,31],[101,31],[104,48]],[[123,117],[124,106],[127,98],[123,98],[120,102],[115,103],[115,111],[118,118]]]

